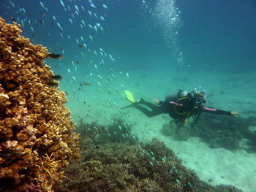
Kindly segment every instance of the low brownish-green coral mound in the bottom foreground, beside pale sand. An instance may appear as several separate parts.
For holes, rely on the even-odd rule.
[[[95,137],[99,129],[102,130],[95,123],[89,125],[81,121],[78,127],[84,145],[82,158],[64,170],[66,177],[53,187],[55,191],[241,192],[233,186],[213,187],[203,183],[157,139],[138,142],[129,132],[127,140],[114,141],[113,137],[108,137],[112,139],[110,142]],[[117,134],[116,137],[122,136]],[[100,142],[100,138],[104,142]]]

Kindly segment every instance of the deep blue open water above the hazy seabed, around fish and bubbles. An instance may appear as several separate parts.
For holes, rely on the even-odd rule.
[[[65,58],[75,59],[74,55],[80,57],[81,49],[77,47],[75,39],[80,40],[80,36],[83,36],[91,50],[99,47],[108,50],[109,54],[116,57],[118,66],[124,69],[133,69],[135,66],[142,70],[146,67],[178,66],[179,55],[173,54],[175,51],[170,46],[168,48],[168,45],[175,46],[178,52],[183,53],[182,63],[190,66],[190,69],[200,67],[207,70],[220,66],[232,67],[235,72],[241,69],[252,70],[252,67],[255,69],[255,1],[177,1],[175,7],[180,11],[177,12],[180,22],[172,26],[178,31],[176,45],[172,45],[171,38],[163,36],[165,28],[157,26],[161,18],[155,19],[154,12],[160,1],[95,1],[97,9],[90,7],[87,1],[64,1],[67,11],[60,1],[42,1],[48,12],[39,1],[23,1],[22,4],[20,1],[1,2],[1,16],[7,22],[11,22],[12,17],[23,20],[23,34],[26,37],[34,34],[32,42],[43,44],[52,52],[59,53],[63,48]],[[162,2],[166,4],[166,9],[172,11],[170,1]],[[103,8],[102,4],[108,4],[109,9]],[[74,14],[75,5],[80,8],[79,16]],[[81,9],[82,5],[85,11]],[[26,9],[26,12],[19,12],[20,8]],[[105,21],[94,15],[90,17],[88,10],[95,12],[98,17],[104,16]],[[162,20],[165,20],[165,15],[162,16]],[[39,19],[44,21],[45,26],[38,23]],[[83,29],[79,26],[82,19],[86,23]],[[28,20],[32,23],[29,24]],[[64,28],[64,38],[61,38],[56,22]],[[94,29],[87,26],[89,23],[92,26],[101,23],[105,32],[99,30],[96,34]],[[70,40],[67,39],[68,34]],[[89,34],[93,35],[94,42],[89,41]],[[96,59],[93,54],[88,56],[88,61]]]

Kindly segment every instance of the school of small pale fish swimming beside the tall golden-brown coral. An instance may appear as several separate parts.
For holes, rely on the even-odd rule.
[[[75,96],[75,92],[90,88],[95,88],[99,96],[102,92],[109,96],[113,96],[114,93],[122,94],[124,85],[118,85],[118,80],[129,78],[129,74],[114,70],[114,54],[106,51],[108,47],[98,46],[99,39],[104,38],[109,31],[106,23],[111,7],[107,5],[108,1],[102,0],[99,3],[96,0],[56,0],[53,4],[51,1],[42,0],[33,1],[33,5],[23,5],[21,2],[10,0],[1,4],[0,7],[4,7],[1,16],[7,22],[11,19],[19,23],[23,35],[29,37],[31,42],[48,47],[49,58],[56,59],[50,60],[49,64],[59,62],[54,63],[54,70],[58,75],[53,78],[67,81]],[[4,15],[12,17],[5,18]],[[109,69],[108,72],[104,72],[106,69]],[[80,78],[81,72],[83,80]],[[88,104],[84,100],[80,102]],[[118,106],[111,98],[106,105]]]

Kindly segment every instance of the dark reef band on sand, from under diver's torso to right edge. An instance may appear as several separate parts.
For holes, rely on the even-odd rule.
[[[175,123],[165,123],[160,130],[166,137],[187,141],[189,137],[200,137],[209,147],[224,147],[227,150],[238,150],[241,147],[249,153],[256,152],[256,131],[250,126],[256,126],[256,118],[237,118],[226,115],[203,113],[195,128],[188,123],[178,134],[175,134]],[[242,139],[246,145],[241,146]]]

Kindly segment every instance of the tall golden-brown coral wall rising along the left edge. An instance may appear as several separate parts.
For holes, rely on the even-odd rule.
[[[0,18],[0,188],[50,191],[59,169],[79,157],[78,134],[64,92],[48,85],[48,50],[21,33]]]

